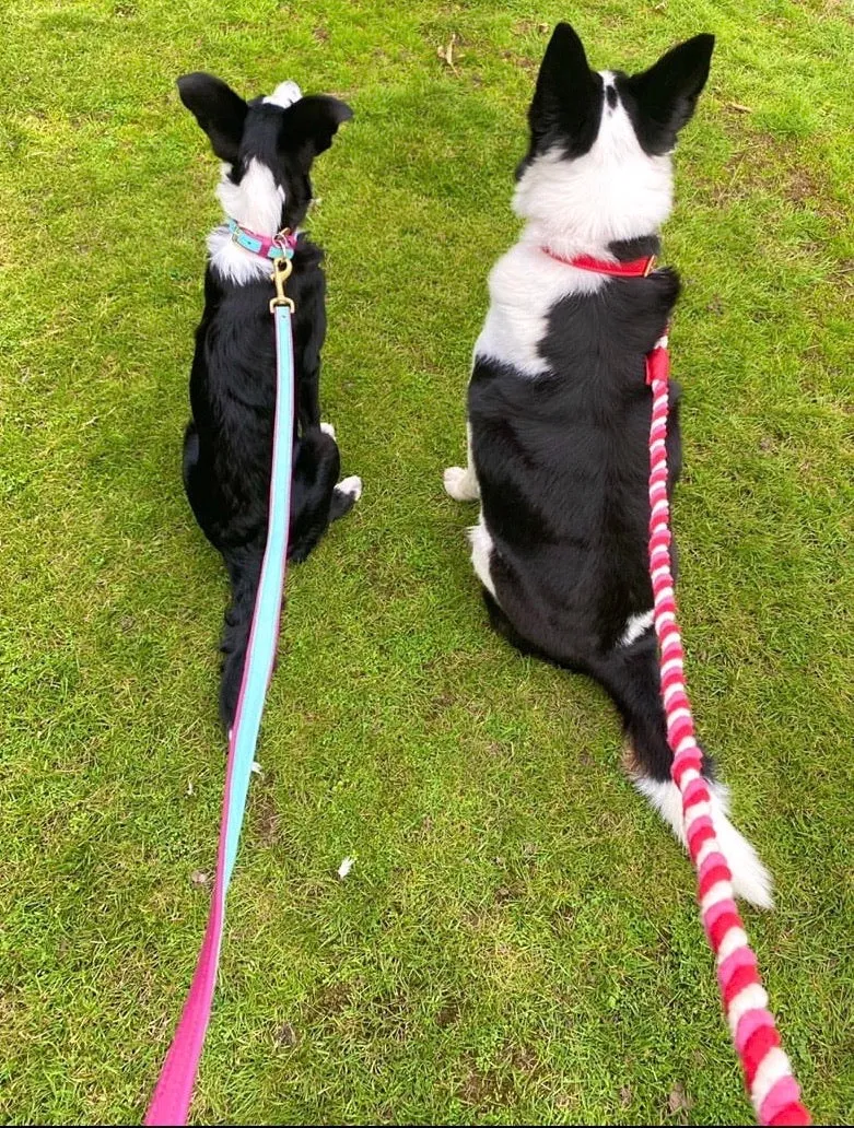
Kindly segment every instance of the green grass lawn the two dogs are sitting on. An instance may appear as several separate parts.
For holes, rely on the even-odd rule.
[[[720,36],[666,238],[686,283],[683,619],[701,729],[777,881],[748,926],[786,1047],[817,1119],[846,1122],[851,10],[3,11],[0,1118],[139,1121],[208,909],[226,588],[178,476],[218,215],[174,87],[195,69],[355,108],[311,227],[325,416],[366,484],[289,578],[195,1120],[749,1116],[689,863],[620,775],[602,694],[490,633],[470,512],[441,491],[535,68],[570,16],[600,67]]]

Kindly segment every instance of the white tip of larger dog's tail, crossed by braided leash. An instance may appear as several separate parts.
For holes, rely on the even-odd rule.
[[[685,845],[683,801],[675,783],[640,776],[633,781],[635,787],[645,795],[651,805],[669,823],[676,837]],[[768,871],[750,843],[739,834],[727,818],[728,792],[721,784],[708,784],[712,796],[711,816],[721,853],[732,871],[732,888],[737,897],[742,897],[758,908],[773,907],[772,880]]]

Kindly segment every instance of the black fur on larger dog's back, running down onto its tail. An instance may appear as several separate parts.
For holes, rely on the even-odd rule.
[[[588,673],[615,699],[644,774],[669,778],[654,637],[617,645],[652,606],[646,564],[650,390],[645,354],[679,292],[676,273],[613,280],[554,307],[531,381],[479,359],[468,394],[473,453],[495,550],[491,620],[526,653]],[[670,482],[681,448],[671,385]]]

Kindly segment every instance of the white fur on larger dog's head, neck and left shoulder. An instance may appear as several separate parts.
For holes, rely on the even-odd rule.
[[[614,86],[610,71],[600,73],[606,89]],[[535,157],[517,185],[513,210],[527,222],[490,275],[490,310],[475,356],[526,376],[547,372],[539,345],[552,307],[573,293],[595,293],[606,279],[555,262],[543,247],[564,258],[614,261],[610,243],[658,233],[671,206],[670,156],[645,153],[623,104],[611,107],[604,96],[590,151],[575,160],[557,149]]]

